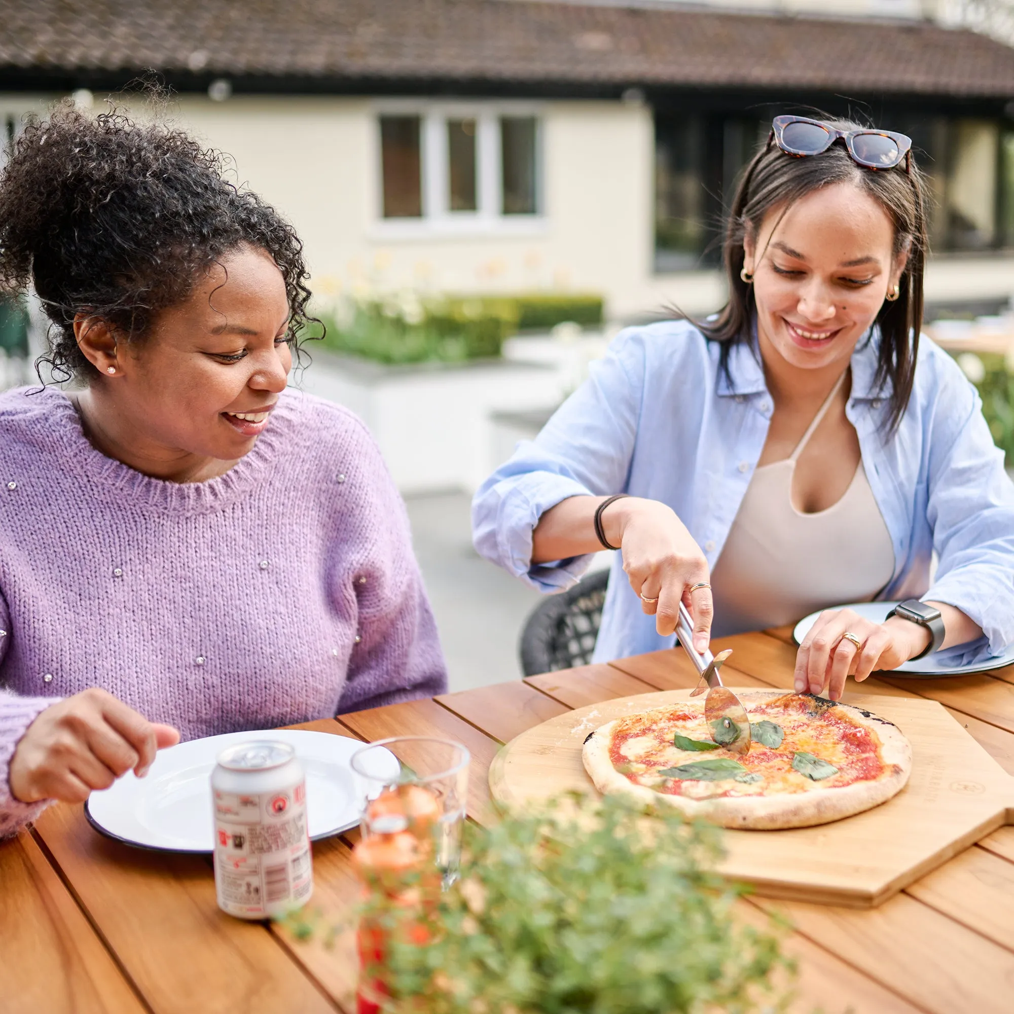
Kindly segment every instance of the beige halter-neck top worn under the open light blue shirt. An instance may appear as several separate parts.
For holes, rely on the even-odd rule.
[[[792,503],[796,459],[845,376],[792,454],[754,470],[712,571],[713,637],[780,627],[817,609],[869,601],[894,573],[890,532],[861,458],[838,503],[812,514]]]

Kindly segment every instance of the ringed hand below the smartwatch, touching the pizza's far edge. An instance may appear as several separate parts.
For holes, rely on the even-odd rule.
[[[820,694],[829,686],[830,699],[839,701],[849,675],[861,682],[876,669],[895,669],[924,651],[931,636],[925,627],[900,617],[875,624],[853,609],[825,609],[796,653],[796,693]]]

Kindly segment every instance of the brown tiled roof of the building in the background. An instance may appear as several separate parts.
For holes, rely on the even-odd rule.
[[[0,0],[0,71],[1014,96],[1014,49],[926,22],[534,0]]]

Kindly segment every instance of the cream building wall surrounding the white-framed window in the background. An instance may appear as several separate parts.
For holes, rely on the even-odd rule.
[[[0,115],[44,113],[59,96],[0,94]],[[96,99],[95,107],[99,107]],[[655,275],[653,128],[642,105],[538,103],[545,220],[485,234],[400,235],[378,219],[376,104],[368,98],[183,96],[180,126],[229,152],[235,179],[275,204],[302,237],[312,288],[454,292],[590,291],[617,320],[676,305],[715,309],[715,271]],[[513,224],[513,223],[512,223]],[[1012,260],[935,259],[930,302],[1014,296]]]

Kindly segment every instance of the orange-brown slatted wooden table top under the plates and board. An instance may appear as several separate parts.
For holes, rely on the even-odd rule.
[[[791,685],[790,630],[714,642],[734,654],[735,685]],[[449,736],[472,751],[468,812],[493,819],[489,766],[501,744],[569,709],[693,686],[678,650],[376,708],[301,728],[353,735]],[[849,690],[856,687],[850,683]],[[1014,666],[942,679],[883,676],[864,694],[941,702],[1014,775]],[[848,700],[848,696],[846,697]],[[338,923],[356,897],[354,832],[313,850],[311,908]],[[875,843],[870,843],[875,848]],[[1003,827],[873,910],[751,898],[745,920],[778,909],[795,926],[794,1011],[1009,1014],[1014,996],[1014,827]],[[352,933],[307,941],[219,912],[210,861],[102,838],[80,806],[49,809],[0,843],[0,1009],[92,1014],[315,1014],[355,1010]]]

